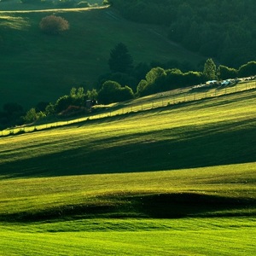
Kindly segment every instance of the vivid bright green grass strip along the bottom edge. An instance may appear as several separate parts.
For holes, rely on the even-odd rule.
[[[0,228],[3,255],[253,255],[255,219],[82,220]]]

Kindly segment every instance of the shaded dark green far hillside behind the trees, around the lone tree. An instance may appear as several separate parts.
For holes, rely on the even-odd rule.
[[[59,36],[40,32],[46,15],[61,15],[70,30]],[[135,65],[151,61],[191,61],[203,57],[172,44],[158,27],[124,20],[113,9],[55,9],[0,12],[0,102],[18,102],[31,108],[55,102],[75,86],[91,88],[108,73],[110,50],[127,45]]]

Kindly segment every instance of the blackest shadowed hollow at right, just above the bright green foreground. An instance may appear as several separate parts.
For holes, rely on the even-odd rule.
[[[137,197],[137,207],[150,218],[207,217],[236,215],[236,210],[245,207],[255,209],[256,201],[196,193],[156,194]]]

